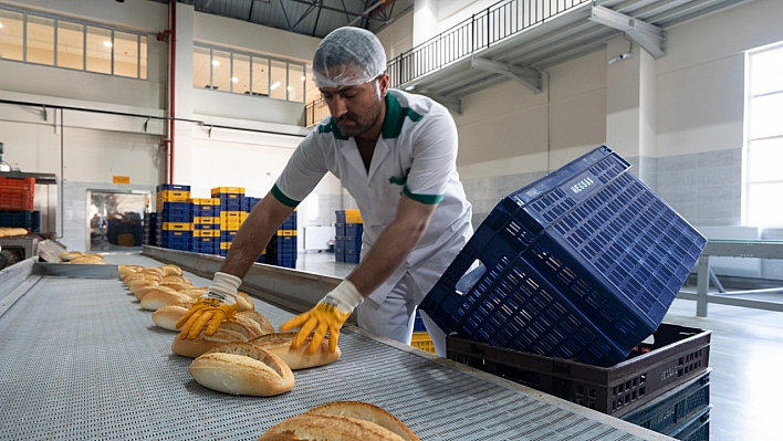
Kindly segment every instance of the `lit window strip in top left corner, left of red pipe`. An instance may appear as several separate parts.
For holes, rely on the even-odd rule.
[[[0,7],[0,59],[147,78],[147,38]]]

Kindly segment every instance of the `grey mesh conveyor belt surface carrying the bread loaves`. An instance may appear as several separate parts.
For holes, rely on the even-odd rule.
[[[275,326],[292,316],[257,309]],[[352,328],[343,358],[296,371],[292,391],[228,396],[190,377],[150,315],[118,280],[42,277],[0,316],[0,440],[255,440],[335,400],[380,406],[422,440],[661,439]]]

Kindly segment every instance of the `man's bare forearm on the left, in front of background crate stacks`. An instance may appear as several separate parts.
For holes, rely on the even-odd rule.
[[[240,227],[231,243],[226,261],[220,272],[236,275],[239,279],[253,265],[269,240],[293,211],[292,207],[280,202],[271,192],[267,193]]]

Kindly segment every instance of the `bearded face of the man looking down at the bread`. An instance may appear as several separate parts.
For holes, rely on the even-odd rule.
[[[320,87],[332,117],[345,136],[362,136],[380,118],[388,75],[346,87]]]

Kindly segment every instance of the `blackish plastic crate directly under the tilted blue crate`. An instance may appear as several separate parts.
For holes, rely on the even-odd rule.
[[[627,413],[697,378],[709,366],[711,330],[662,323],[612,367],[544,357],[456,336],[447,357],[610,416]]]

